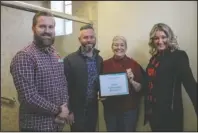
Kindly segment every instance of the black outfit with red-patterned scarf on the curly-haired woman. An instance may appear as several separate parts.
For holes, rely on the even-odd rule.
[[[145,122],[152,131],[183,131],[181,84],[197,114],[197,82],[185,51],[165,50],[154,55],[146,68]]]

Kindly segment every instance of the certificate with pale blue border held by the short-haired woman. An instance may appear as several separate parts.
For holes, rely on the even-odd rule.
[[[103,74],[99,76],[100,96],[119,96],[129,94],[126,73]]]

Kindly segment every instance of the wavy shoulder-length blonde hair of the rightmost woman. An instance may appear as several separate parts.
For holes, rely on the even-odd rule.
[[[164,23],[158,23],[153,26],[153,28],[150,32],[150,38],[149,38],[148,45],[150,47],[149,53],[151,55],[154,55],[157,52],[156,46],[153,43],[153,39],[154,39],[157,31],[163,31],[166,34],[166,36],[168,38],[167,45],[171,51],[179,49],[179,45],[177,43],[177,37],[174,35],[172,29]]]

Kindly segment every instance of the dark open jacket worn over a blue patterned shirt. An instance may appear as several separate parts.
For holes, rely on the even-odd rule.
[[[103,59],[99,55],[99,50],[94,49],[94,52],[96,53],[97,70],[100,74]],[[68,81],[69,109],[74,112],[83,111],[88,85],[88,73],[85,57],[81,54],[80,48],[64,58],[64,72]],[[99,90],[98,81],[99,79],[95,83],[97,90]]]

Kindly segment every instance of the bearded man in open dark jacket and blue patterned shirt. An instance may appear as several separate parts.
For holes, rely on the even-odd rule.
[[[80,28],[79,49],[64,58],[65,75],[68,80],[68,122],[71,131],[96,131],[98,118],[99,74],[103,59],[95,49],[94,28]]]

